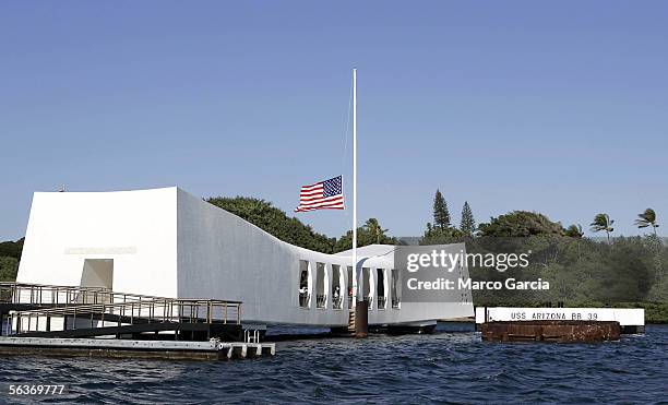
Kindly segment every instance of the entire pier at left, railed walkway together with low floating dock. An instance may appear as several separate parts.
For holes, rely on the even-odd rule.
[[[241,302],[230,300],[0,283],[0,354],[231,359],[276,352],[244,333]]]

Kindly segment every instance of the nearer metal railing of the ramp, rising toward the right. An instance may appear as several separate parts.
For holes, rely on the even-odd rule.
[[[69,331],[138,323],[241,323],[241,302],[157,298],[17,311],[8,315],[3,335]],[[56,320],[56,322],[53,322]]]

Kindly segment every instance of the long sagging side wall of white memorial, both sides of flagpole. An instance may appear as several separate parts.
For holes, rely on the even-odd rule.
[[[240,217],[213,206],[181,190],[178,193],[178,260],[179,297],[220,298],[240,300],[246,322],[287,323],[342,326],[348,322],[347,291],[343,288],[344,308],[332,308],[332,264],[344,272],[351,258],[344,254],[324,254],[283,242]],[[386,247],[379,247],[386,251]],[[461,246],[446,249],[458,251]],[[378,249],[377,249],[378,250]],[[375,252],[367,249],[368,252]],[[365,258],[358,267],[371,269],[371,284],[375,286],[375,269],[386,269],[387,279],[393,255]],[[309,308],[299,306],[299,261],[310,263]],[[327,302],[315,308],[317,263],[325,263]],[[358,271],[359,273],[359,271]],[[468,271],[464,271],[468,276]],[[420,321],[473,315],[473,303],[460,302],[402,302],[392,309],[387,282],[385,310],[377,308],[375,288],[371,290],[373,307],[369,311],[371,324],[414,323]]]

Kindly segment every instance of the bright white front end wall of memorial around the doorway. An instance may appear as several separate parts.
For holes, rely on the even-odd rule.
[[[36,192],[21,283],[81,283],[85,259],[114,260],[114,289],[176,297],[176,188]]]

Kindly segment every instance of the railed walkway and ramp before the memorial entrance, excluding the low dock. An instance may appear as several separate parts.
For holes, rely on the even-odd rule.
[[[16,337],[130,336],[240,341],[241,302],[151,297],[106,289],[0,285],[1,335]],[[171,332],[170,335],[160,332]],[[146,336],[152,334],[152,336]]]

